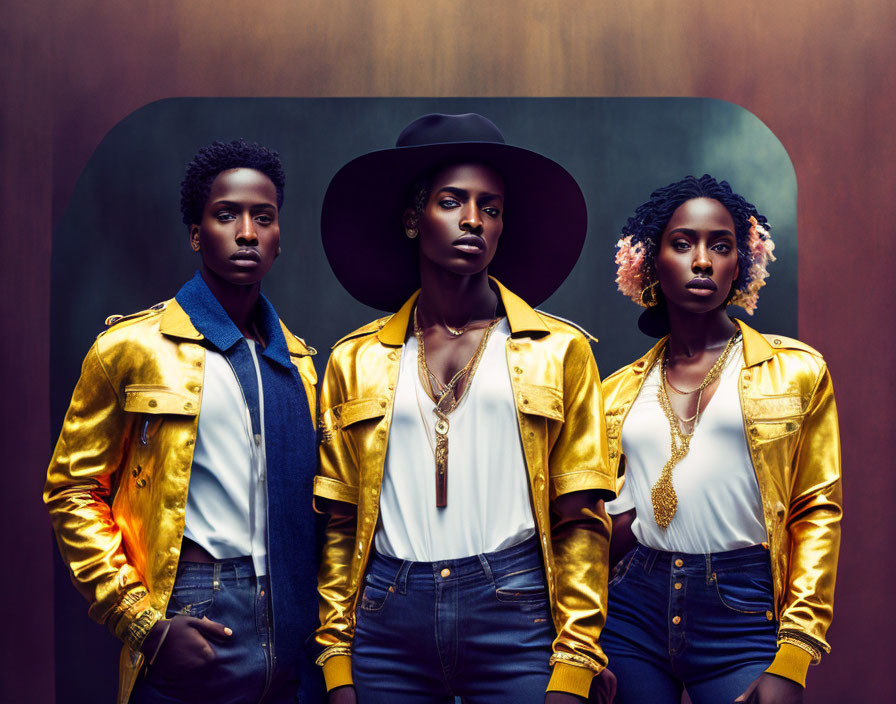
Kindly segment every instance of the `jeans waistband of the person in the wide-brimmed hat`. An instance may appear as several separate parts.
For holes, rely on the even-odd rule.
[[[401,560],[389,555],[374,553],[368,572],[394,581],[404,591],[407,582],[452,582],[484,576],[488,581],[493,574],[542,567],[541,552],[536,536],[503,550],[435,562]]]

